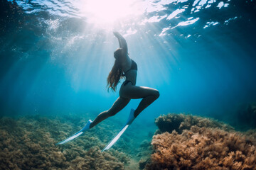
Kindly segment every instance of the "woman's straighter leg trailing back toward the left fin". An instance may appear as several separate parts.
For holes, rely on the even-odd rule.
[[[108,111],[104,111],[97,115],[97,118],[93,120],[93,122],[90,124],[90,128],[93,128],[95,125],[100,123],[102,120],[105,120],[106,118],[109,118],[112,115],[117,114],[119,111],[121,111],[127,104],[129,103],[131,99],[129,98],[117,98],[117,101],[114,101],[113,106]]]

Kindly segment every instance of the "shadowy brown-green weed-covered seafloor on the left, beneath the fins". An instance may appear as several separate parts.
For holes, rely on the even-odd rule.
[[[0,118],[0,169],[119,170],[129,162],[126,154],[114,149],[100,152],[105,145],[91,132],[67,145],[55,146],[81,128],[60,121],[37,116]]]

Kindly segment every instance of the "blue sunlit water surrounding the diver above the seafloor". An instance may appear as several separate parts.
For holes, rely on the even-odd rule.
[[[105,26],[78,1],[1,2],[0,114],[94,119],[109,109],[119,96],[106,88],[118,47],[112,30],[138,64],[137,85],[161,94],[140,120],[166,113],[228,120],[256,101],[255,1],[139,3],[142,13]]]

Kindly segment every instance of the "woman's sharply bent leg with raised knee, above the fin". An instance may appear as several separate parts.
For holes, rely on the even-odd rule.
[[[120,96],[124,98],[143,98],[139,103],[139,106],[134,111],[134,117],[136,118],[146,107],[159,98],[159,91],[144,86],[132,86],[128,85],[123,87],[120,91]]]

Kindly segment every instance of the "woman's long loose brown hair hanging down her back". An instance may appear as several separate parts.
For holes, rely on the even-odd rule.
[[[116,60],[114,61],[114,65],[107,77],[107,91],[109,91],[110,88],[112,91],[116,91],[119,80],[124,77],[122,74],[123,70],[121,64],[118,60],[118,55],[121,55],[121,49],[118,49],[114,52],[114,58],[116,58]]]

